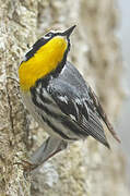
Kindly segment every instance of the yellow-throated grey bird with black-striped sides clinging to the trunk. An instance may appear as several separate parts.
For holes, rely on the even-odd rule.
[[[98,97],[68,61],[70,36],[75,26],[64,32],[46,33],[33,45],[19,68],[23,102],[49,134],[31,158],[35,166],[66,149],[70,143],[88,136],[110,148],[102,122],[120,142]]]

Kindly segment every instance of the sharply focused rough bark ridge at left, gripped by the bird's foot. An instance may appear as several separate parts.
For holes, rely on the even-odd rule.
[[[24,4],[25,3],[25,4]],[[0,195],[31,195],[29,175],[19,164],[26,159],[27,122],[21,101],[17,69],[36,30],[35,1],[0,4]]]

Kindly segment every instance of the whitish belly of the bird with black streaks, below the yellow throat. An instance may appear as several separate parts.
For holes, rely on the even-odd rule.
[[[26,106],[29,113],[33,115],[35,121],[44,128],[49,135],[60,137],[64,140],[78,140],[80,137],[62,125],[58,119],[50,118],[42,109],[37,108],[32,101],[29,93],[22,93],[23,102]],[[51,123],[51,125],[50,125]]]

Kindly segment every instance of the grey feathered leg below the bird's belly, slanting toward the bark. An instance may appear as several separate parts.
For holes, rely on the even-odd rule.
[[[57,137],[48,137],[47,140],[32,155],[29,161],[32,170],[36,169],[49,158],[66,149],[68,143]]]

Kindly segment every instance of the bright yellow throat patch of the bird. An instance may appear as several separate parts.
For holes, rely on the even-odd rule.
[[[31,59],[23,61],[19,69],[21,89],[28,90],[37,79],[56,70],[63,59],[67,47],[67,40],[57,36],[42,46]]]

